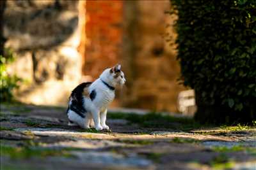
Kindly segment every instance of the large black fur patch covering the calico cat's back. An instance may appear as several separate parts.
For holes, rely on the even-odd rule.
[[[87,83],[81,83],[80,85],[77,85],[77,87],[72,91],[71,93],[71,99],[72,102],[70,106],[68,106],[68,109],[74,111],[79,115],[80,117],[84,118],[84,113],[86,113],[86,110],[83,107],[84,101],[83,101],[83,91],[84,88],[90,86],[92,82]]]

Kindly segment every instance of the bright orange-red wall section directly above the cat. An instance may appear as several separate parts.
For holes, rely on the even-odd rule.
[[[86,1],[86,55],[83,74],[97,78],[120,58],[122,1]]]

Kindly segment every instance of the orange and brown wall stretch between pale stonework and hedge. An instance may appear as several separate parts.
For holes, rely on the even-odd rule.
[[[170,1],[86,1],[86,54],[83,74],[122,63],[126,88],[115,106],[177,111],[179,63],[173,23],[164,13]],[[169,34],[171,39],[164,39]]]

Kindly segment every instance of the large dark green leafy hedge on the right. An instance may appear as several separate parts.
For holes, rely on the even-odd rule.
[[[256,1],[172,0],[181,81],[202,122],[256,119]],[[203,118],[204,117],[204,118]]]

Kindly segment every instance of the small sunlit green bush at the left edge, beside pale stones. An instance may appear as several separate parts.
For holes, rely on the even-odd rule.
[[[9,48],[4,49],[4,56],[0,55],[0,101],[10,102],[13,100],[13,89],[19,87],[21,81],[16,75],[10,75],[6,72],[7,64],[13,62],[13,53]]]

